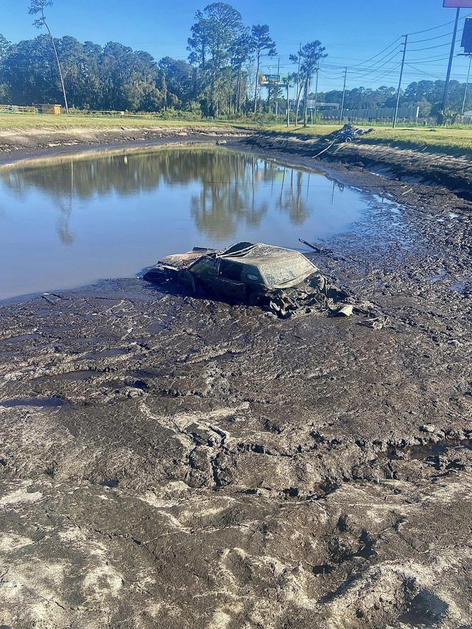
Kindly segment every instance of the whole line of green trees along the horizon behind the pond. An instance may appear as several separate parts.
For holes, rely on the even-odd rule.
[[[45,10],[52,0],[30,0],[29,12],[43,31],[38,37],[10,43],[0,35],[0,103],[60,103],[76,109],[168,112],[219,117],[274,114],[285,109],[285,90],[259,85],[266,60],[277,56],[267,24],[247,26],[237,9],[225,2],[195,14],[188,38],[188,60],[156,60],[143,50],[118,42],[102,46],[70,36],[53,38]],[[44,32],[45,31],[45,32]],[[325,58],[319,41],[290,55],[294,71],[287,77],[296,87],[296,122],[306,124],[313,77]],[[451,82],[452,109],[460,110],[465,84]],[[402,105],[419,105],[424,116],[439,113],[444,81],[411,83]],[[395,107],[395,87],[356,87],[345,92],[346,109]],[[262,96],[264,95],[264,98]],[[469,98],[467,106],[472,105]],[[318,102],[340,103],[342,90],[321,92]]]

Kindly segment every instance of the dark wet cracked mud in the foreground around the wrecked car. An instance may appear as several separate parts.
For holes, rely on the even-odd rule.
[[[0,306],[1,624],[472,626],[472,204],[329,168],[376,210],[311,257],[382,330],[138,279]]]

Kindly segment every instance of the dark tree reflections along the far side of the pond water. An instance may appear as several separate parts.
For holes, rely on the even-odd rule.
[[[269,210],[267,200],[278,196],[280,185],[277,205],[292,224],[301,225],[312,211],[306,203],[308,173],[208,146],[43,161],[0,172],[0,181],[20,197],[31,190],[48,195],[60,211],[56,231],[65,245],[74,240],[69,225],[75,200],[134,197],[161,186],[197,184],[200,190],[192,196],[189,208],[195,227],[221,241],[235,235],[241,225],[259,227]]]

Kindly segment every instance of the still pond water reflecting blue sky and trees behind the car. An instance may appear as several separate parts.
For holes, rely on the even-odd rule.
[[[134,276],[165,254],[238,240],[297,247],[359,220],[358,190],[222,147],[0,171],[0,299]]]

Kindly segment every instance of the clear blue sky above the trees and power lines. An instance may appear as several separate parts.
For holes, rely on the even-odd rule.
[[[28,0],[0,0],[0,33],[9,41],[38,35],[28,4]],[[201,4],[198,0],[55,0],[46,16],[55,37],[71,35],[100,44],[119,41],[156,59],[167,55],[185,59],[195,11],[206,4],[208,0]],[[426,29],[433,30],[409,35],[404,85],[446,76],[456,9],[444,9],[442,0],[234,0],[230,4],[247,26],[269,25],[281,74],[294,70],[289,54],[300,43],[321,41],[328,53],[319,76],[322,91],[342,89],[344,66],[348,66],[348,88],[398,85],[401,38]],[[472,16],[472,8],[461,10],[461,17],[467,15]],[[460,40],[459,30],[456,54],[462,52]],[[452,78],[465,82],[468,63],[456,56]],[[262,70],[277,73],[277,58],[265,59]]]

